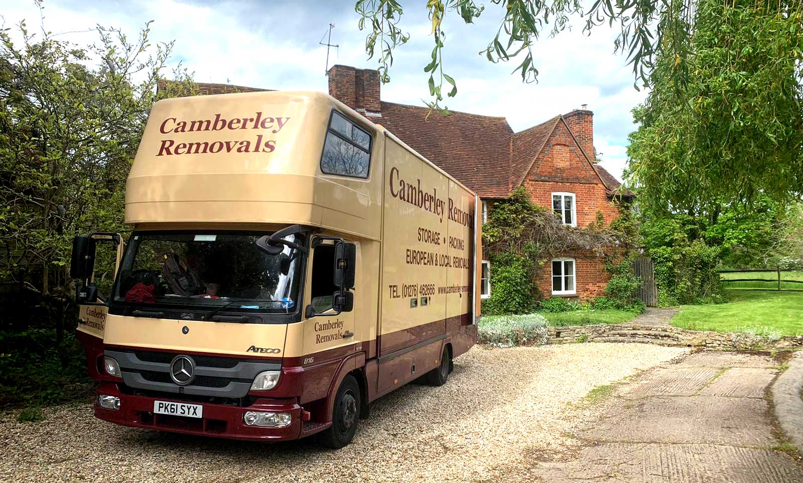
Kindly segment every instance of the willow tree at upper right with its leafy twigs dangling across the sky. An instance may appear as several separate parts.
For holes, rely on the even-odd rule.
[[[614,48],[633,66],[636,87],[652,88],[634,111],[631,182],[642,202],[701,213],[716,205],[803,193],[799,0],[491,0],[499,29],[480,52],[492,63],[517,62],[537,79],[533,51],[541,35],[570,26],[617,26]],[[407,43],[399,0],[357,0],[365,50],[389,82],[393,51]],[[487,14],[475,0],[429,0],[433,49],[424,67],[431,108],[457,94],[444,71],[447,20]]]

